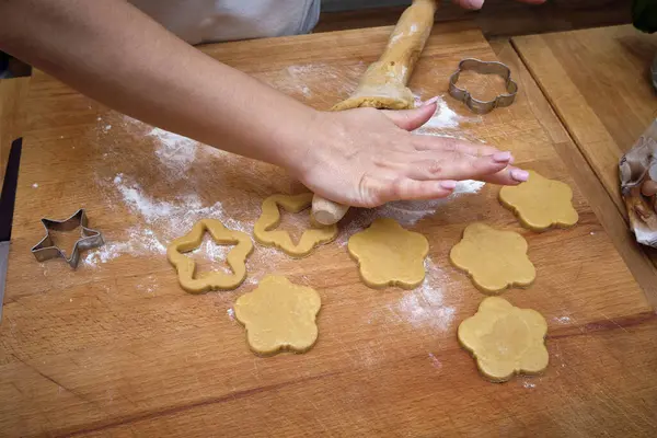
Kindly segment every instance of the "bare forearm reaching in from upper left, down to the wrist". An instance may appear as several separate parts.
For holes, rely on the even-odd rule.
[[[315,112],[222,65],[124,0],[0,0],[0,48],[99,102],[287,165]],[[297,146],[291,146],[297,145]]]

